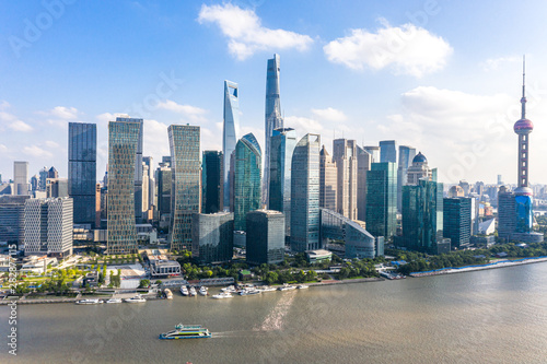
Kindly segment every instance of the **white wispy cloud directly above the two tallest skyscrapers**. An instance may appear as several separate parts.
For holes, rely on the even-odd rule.
[[[202,4],[198,22],[216,23],[229,38],[230,52],[240,60],[258,50],[295,48],[302,51],[313,43],[307,35],[264,27],[253,10],[244,10],[231,3],[211,7]]]

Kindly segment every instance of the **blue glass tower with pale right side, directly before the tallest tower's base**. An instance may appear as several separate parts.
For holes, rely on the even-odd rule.
[[[296,146],[296,132],[291,128],[274,130],[270,141],[269,209],[280,211],[286,221],[291,219],[291,161]],[[286,224],[290,236],[290,224]]]

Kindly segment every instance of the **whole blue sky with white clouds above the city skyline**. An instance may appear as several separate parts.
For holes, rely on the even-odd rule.
[[[223,82],[240,87],[240,130],[264,148],[267,59],[281,59],[284,126],[359,145],[421,151],[441,181],[516,183],[526,55],[529,179],[547,184],[547,2],[0,0],[0,174],[67,176],[68,122],[144,118],[144,155],[167,127],[201,127],[222,149]]]

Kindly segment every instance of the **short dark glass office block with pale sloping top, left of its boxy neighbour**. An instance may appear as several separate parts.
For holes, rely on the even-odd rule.
[[[191,256],[207,265],[232,260],[233,232],[232,212],[195,213],[191,219]]]

